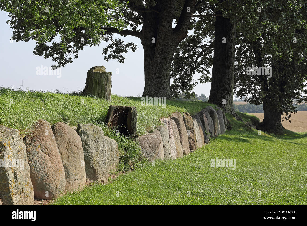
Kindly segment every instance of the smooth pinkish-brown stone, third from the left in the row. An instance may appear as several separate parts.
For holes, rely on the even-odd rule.
[[[65,171],[65,192],[83,190],[86,182],[82,141],[69,125],[57,122],[52,125],[56,145]]]

